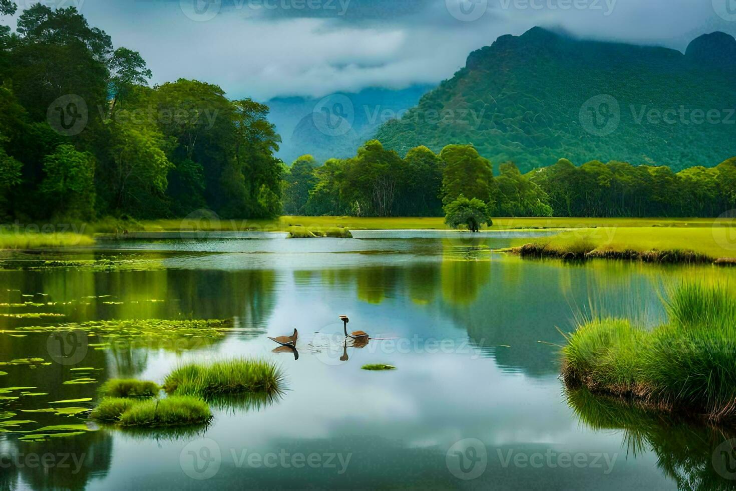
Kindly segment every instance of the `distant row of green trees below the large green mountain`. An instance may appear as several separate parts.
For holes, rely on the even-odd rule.
[[[401,158],[379,141],[353,158],[317,166],[310,155],[286,174],[284,212],[307,215],[439,216],[463,194],[481,199],[492,216],[718,216],[736,208],[736,158],[718,166],[673,172],[561,159],[522,174],[512,162],[492,164],[472,145],[426,146]]]

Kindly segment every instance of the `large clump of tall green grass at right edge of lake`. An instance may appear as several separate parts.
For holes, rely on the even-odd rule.
[[[593,319],[567,336],[568,387],[637,400],[653,409],[736,421],[736,297],[726,285],[668,290],[669,320],[652,330]]]

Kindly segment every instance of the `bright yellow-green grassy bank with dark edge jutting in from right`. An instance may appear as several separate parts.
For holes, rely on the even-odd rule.
[[[518,245],[528,240],[520,239]],[[570,258],[651,258],[670,262],[693,252],[701,262],[728,262],[736,258],[736,227],[720,223],[693,227],[601,227],[569,230],[537,239],[533,247],[519,249],[523,255],[549,255]]]

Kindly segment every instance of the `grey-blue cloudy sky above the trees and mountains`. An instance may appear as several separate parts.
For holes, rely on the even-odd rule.
[[[535,25],[681,51],[704,32],[736,34],[736,0],[40,1],[76,6],[141,52],[153,82],[195,78],[259,100],[436,83]]]

